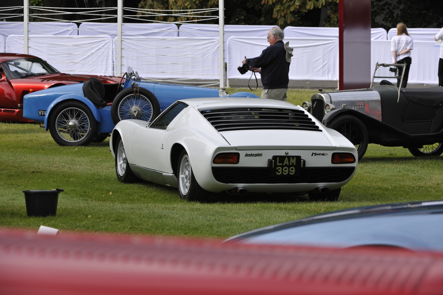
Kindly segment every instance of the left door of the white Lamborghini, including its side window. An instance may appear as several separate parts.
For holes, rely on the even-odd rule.
[[[163,111],[151,125],[136,128],[132,141],[132,153],[137,166],[159,171],[159,161],[166,161],[167,153],[169,153],[166,150],[167,136],[170,132],[167,127],[186,107],[186,103],[176,102]]]

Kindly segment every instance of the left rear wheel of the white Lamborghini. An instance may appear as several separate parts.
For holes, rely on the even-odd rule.
[[[209,193],[205,191],[195,180],[191,163],[186,150],[182,150],[177,167],[177,184],[180,199],[197,202],[207,202]]]

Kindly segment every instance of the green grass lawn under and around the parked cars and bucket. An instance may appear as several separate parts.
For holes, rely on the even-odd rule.
[[[314,93],[290,90],[288,101],[300,104]],[[216,195],[211,203],[193,203],[179,199],[174,188],[118,182],[108,139],[86,147],[58,146],[39,124],[0,123],[0,226],[227,238],[332,210],[442,199],[442,159],[416,158],[402,147],[369,145],[337,202]],[[22,191],[55,188],[65,190],[57,215],[27,217]]]

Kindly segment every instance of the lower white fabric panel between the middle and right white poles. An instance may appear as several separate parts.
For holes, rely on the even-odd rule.
[[[220,77],[218,38],[124,37],[122,47],[123,69],[131,66],[143,78]]]

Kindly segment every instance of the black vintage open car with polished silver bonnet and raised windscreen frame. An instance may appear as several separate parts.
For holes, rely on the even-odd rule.
[[[370,88],[320,89],[303,108],[354,143],[358,159],[369,143],[403,146],[417,157],[439,156],[443,153],[443,87],[399,89],[388,80],[373,86],[374,78],[402,80],[403,75],[375,76],[377,69],[396,72],[399,66],[404,65],[377,63]]]

